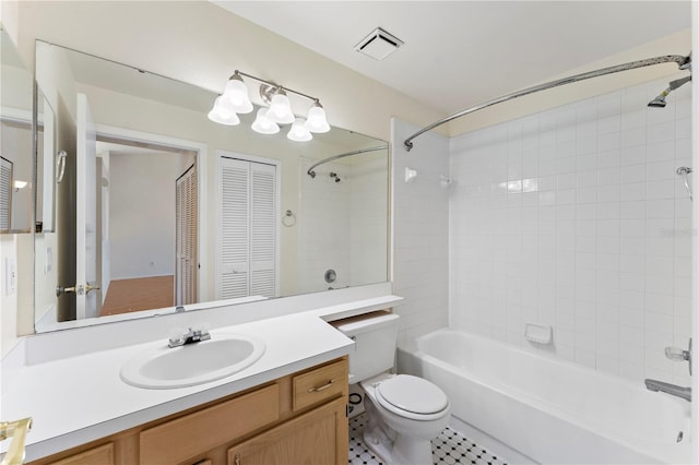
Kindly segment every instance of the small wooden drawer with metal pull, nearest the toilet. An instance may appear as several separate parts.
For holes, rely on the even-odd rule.
[[[293,379],[294,412],[342,395],[347,389],[347,360],[342,359]]]

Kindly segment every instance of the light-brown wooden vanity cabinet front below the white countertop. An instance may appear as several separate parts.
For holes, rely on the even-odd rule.
[[[346,464],[347,357],[33,462]]]

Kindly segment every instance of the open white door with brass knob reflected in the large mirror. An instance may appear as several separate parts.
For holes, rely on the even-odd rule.
[[[75,227],[75,294],[76,317],[97,317],[97,205],[96,205],[96,157],[97,134],[87,105],[87,97],[78,94],[76,124],[76,227]],[[95,286],[93,290],[93,286]]]

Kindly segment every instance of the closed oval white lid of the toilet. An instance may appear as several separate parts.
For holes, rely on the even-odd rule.
[[[435,384],[411,374],[399,374],[378,386],[379,402],[414,414],[428,415],[449,405],[447,394]]]

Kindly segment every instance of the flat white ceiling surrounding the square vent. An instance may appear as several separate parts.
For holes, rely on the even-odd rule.
[[[212,1],[446,114],[691,26],[689,1]],[[405,43],[382,61],[354,49],[376,27]]]

